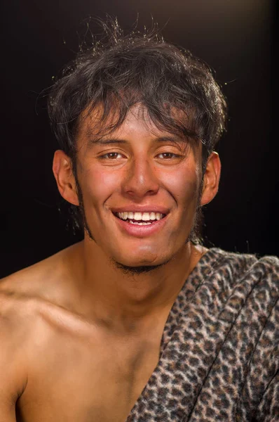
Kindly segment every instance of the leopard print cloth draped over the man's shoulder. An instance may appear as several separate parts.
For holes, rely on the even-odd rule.
[[[212,248],[165,324],[126,422],[279,421],[279,260]]]

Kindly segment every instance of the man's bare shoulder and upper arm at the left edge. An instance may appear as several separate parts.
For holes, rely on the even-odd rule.
[[[14,420],[15,402],[42,353],[50,344],[56,347],[57,328],[61,333],[64,324],[73,331],[72,313],[63,302],[71,302],[65,299],[66,256],[59,252],[0,280],[0,415],[7,421]]]

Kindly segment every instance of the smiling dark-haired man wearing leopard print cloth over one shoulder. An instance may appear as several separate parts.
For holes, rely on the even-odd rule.
[[[84,240],[0,284],[0,422],[278,421],[278,271],[198,244],[226,104],[156,34],[56,82],[53,172]]]

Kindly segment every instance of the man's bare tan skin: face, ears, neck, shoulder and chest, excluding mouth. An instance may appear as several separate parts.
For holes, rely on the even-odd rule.
[[[198,192],[200,205],[217,193],[220,162],[212,153],[202,177],[200,146],[140,116],[140,106],[130,110],[102,143],[90,135],[96,116],[82,120],[77,178],[95,240],[86,232],[0,283],[0,422],[123,422],[158,363],[172,304],[206,251],[187,239]],[[53,172],[63,198],[79,205],[62,151]],[[112,212],[141,206],[168,210],[156,234],[132,236]],[[156,268],[126,273],[116,262]]]

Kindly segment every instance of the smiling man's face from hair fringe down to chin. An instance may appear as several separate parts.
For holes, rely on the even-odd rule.
[[[125,266],[168,262],[193,228],[200,146],[158,130],[140,107],[102,139],[90,135],[95,124],[94,115],[86,117],[77,140],[77,179],[90,233]]]

